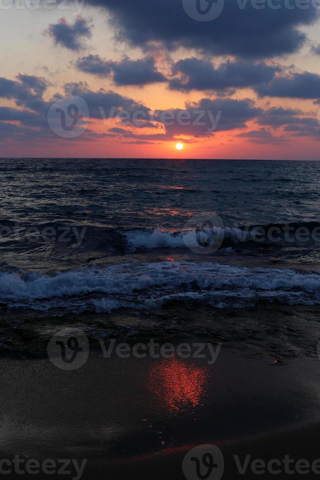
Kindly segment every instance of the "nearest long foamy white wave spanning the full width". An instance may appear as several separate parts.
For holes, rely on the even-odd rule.
[[[0,270],[2,308],[151,311],[172,301],[203,302],[217,308],[259,301],[316,305],[320,304],[320,275],[188,261],[133,261],[52,276]]]

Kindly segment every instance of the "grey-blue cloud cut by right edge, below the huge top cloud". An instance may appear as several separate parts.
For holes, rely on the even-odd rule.
[[[259,96],[319,98],[320,75],[310,72],[279,75],[271,82],[257,85],[255,90]]]

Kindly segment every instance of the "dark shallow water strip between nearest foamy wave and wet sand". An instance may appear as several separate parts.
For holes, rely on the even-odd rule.
[[[300,356],[317,358],[320,339],[318,305],[283,305],[259,302],[242,308],[213,308],[172,301],[154,311],[119,309],[112,313],[83,312],[48,315],[16,310],[2,314],[0,358],[46,358],[50,338],[63,329],[82,330],[90,348],[99,341],[130,345],[154,339],[171,342],[221,343],[244,357],[291,361]]]

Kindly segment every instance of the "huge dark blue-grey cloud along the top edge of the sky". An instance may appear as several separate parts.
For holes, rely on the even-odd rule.
[[[312,5],[289,9],[285,0],[276,1],[276,8],[265,3],[262,9],[261,4],[254,8],[251,1],[226,0],[220,16],[210,22],[190,18],[182,0],[90,0],[90,3],[107,8],[117,38],[134,46],[149,48],[152,43],[160,42],[169,49],[196,48],[213,54],[256,58],[296,51],[306,40],[299,27],[311,24],[318,17]]]

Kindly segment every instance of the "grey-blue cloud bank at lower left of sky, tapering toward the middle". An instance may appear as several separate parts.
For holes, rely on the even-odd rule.
[[[0,137],[15,138],[21,141],[52,140],[54,136],[47,123],[47,112],[54,100],[60,99],[61,94],[53,96],[51,101],[44,99],[47,87],[50,85],[42,77],[31,75],[17,75],[15,80],[0,77],[0,97],[14,100],[17,107],[0,107]],[[136,102],[127,96],[121,96],[115,92],[106,92],[100,89],[91,91],[85,82],[69,83],[65,85],[67,96],[65,101],[66,111],[69,105],[68,95],[81,96],[88,104],[90,117],[92,119],[108,120],[114,119],[115,115],[125,112],[129,115],[132,123],[132,116],[136,112],[149,112],[148,107]],[[17,122],[17,124],[8,122]],[[142,126],[142,125],[141,125]],[[153,126],[153,125],[152,125]],[[115,132],[114,136],[115,136]],[[112,136],[112,133],[96,134],[88,129],[81,136],[81,141],[89,138],[101,138]]]

